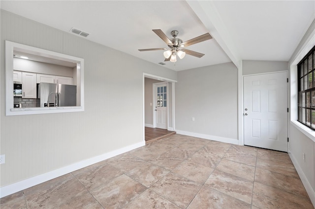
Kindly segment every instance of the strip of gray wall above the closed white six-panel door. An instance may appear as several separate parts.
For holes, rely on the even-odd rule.
[[[243,60],[243,75],[288,70],[287,61]]]

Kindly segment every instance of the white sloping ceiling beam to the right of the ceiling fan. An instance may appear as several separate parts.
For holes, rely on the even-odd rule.
[[[187,0],[187,3],[203,25],[209,30],[211,36],[218,42],[226,55],[232,60],[236,67],[239,67],[241,62],[239,52],[213,1]]]

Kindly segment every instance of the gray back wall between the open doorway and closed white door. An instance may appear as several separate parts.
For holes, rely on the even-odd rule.
[[[177,78],[176,130],[237,139],[236,66],[228,62],[179,71]]]

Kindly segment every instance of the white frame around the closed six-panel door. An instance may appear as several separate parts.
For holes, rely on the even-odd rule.
[[[244,129],[245,129],[245,124],[244,124],[244,109],[245,109],[245,106],[244,106],[244,77],[245,76],[252,76],[252,75],[264,75],[264,74],[271,74],[271,73],[280,73],[280,72],[286,72],[286,77],[288,78],[288,71],[287,70],[282,70],[282,71],[274,71],[274,72],[267,72],[267,73],[256,73],[256,74],[248,74],[248,75],[242,75],[243,74],[243,68],[240,67],[238,69],[238,81],[239,81],[239,84],[241,84],[242,88],[241,88],[241,91],[240,91],[240,85],[239,85],[239,92],[238,92],[238,95],[239,95],[239,102],[241,102],[242,105],[239,105],[239,107],[242,107],[242,109],[240,110],[239,109],[239,112],[238,112],[238,116],[239,116],[239,122],[242,121],[241,125],[239,126],[239,145],[244,145]],[[240,81],[240,79],[242,79]],[[286,85],[286,92],[287,92],[287,108],[290,108],[289,107],[289,86],[288,86],[288,83]],[[289,113],[287,113],[287,126],[289,125]],[[241,118],[240,118],[241,117]],[[242,131],[240,133],[240,131]],[[287,137],[289,137],[289,128],[287,128]],[[289,143],[287,143],[287,145],[289,145]]]

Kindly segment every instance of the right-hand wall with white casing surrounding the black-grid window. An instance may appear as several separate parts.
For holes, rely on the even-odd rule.
[[[289,90],[290,90],[290,120],[289,122],[289,154],[294,163],[296,170],[298,171],[300,178],[304,184],[304,187],[308,191],[308,194],[315,205],[315,142],[314,131],[312,132],[313,140],[303,133],[294,125],[293,121],[297,124],[297,63],[303,59],[303,57],[314,46],[314,31],[315,20],[313,20],[310,28],[302,38],[295,52],[289,60]],[[306,48],[309,49],[306,49]],[[303,127],[303,125],[300,125]],[[304,127],[305,128],[305,127]],[[310,130],[309,128],[306,128]],[[303,153],[305,153],[305,162],[303,159]]]

